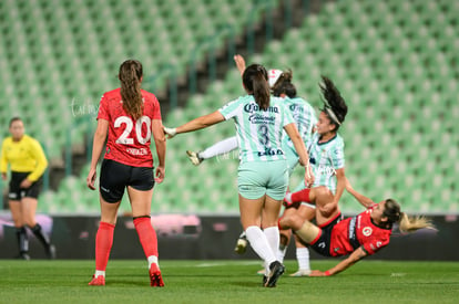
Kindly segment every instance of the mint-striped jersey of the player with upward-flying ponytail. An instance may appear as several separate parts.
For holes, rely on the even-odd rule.
[[[319,134],[314,134],[307,147],[309,163],[314,169],[313,187],[326,186],[336,191],[336,169],[345,167],[343,137],[338,134],[326,143],[319,144]]]

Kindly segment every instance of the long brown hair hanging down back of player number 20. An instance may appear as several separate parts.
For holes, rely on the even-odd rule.
[[[141,93],[142,63],[136,60],[126,60],[120,65],[119,78],[121,82],[121,98],[124,111],[134,120],[142,117],[143,103]]]

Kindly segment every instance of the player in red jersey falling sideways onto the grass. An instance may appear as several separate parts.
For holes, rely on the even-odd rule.
[[[375,254],[390,242],[392,226],[399,224],[401,232],[412,232],[418,229],[435,229],[424,217],[410,218],[400,211],[400,206],[394,199],[375,203],[360,195],[346,182],[346,190],[368,209],[353,218],[338,223],[318,228],[296,213],[279,220],[279,228],[290,228],[306,244],[324,256],[341,256],[349,254],[334,268],[327,271],[314,270],[309,276],[328,276],[337,274],[354,265],[367,255]],[[297,201],[285,202],[286,207],[297,208]]]

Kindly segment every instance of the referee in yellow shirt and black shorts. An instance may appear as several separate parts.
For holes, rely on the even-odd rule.
[[[47,256],[54,259],[55,248],[35,221],[42,176],[48,167],[47,157],[40,143],[24,134],[24,124],[21,118],[11,118],[9,130],[11,136],[4,138],[1,145],[0,171],[3,180],[7,180],[8,165],[11,166],[8,202],[18,238],[18,258],[30,260],[29,239],[26,231],[28,227],[43,244]]]

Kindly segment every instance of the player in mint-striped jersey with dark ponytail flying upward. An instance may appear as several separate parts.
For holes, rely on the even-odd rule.
[[[308,221],[315,218],[319,227],[336,223],[341,219],[338,201],[345,189],[346,176],[344,140],[338,134],[338,129],[347,114],[346,102],[333,81],[325,76],[322,76],[322,80],[323,84],[319,86],[324,97],[324,108],[319,114],[316,133],[308,143],[309,161],[315,181],[312,188],[286,195],[284,200],[287,203],[292,203],[292,201],[304,203],[298,209],[285,209],[283,214],[283,217],[288,217],[296,213]],[[297,189],[300,188],[305,188],[304,184],[297,187]],[[310,203],[316,206],[317,210],[314,210]],[[288,229],[280,230],[280,233],[279,255],[283,256],[292,232]],[[304,248],[298,241],[296,245],[297,249]],[[309,263],[303,261],[309,260],[309,252],[300,250],[299,255],[297,256],[299,270],[293,275],[308,275]]]

